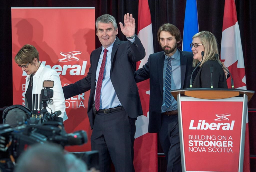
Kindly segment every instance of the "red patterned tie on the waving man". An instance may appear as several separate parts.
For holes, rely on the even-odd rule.
[[[100,66],[100,73],[99,78],[97,81],[97,87],[96,87],[96,96],[95,96],[95,109],[98,111],[100,108],[100,93],[101,93],[101,86],[102,86],[102,80],[103,80],[103,73],[105,69],[105,63],[106,63],[106,57],[107,57],[107,49],[104,49],[103,59]]]

